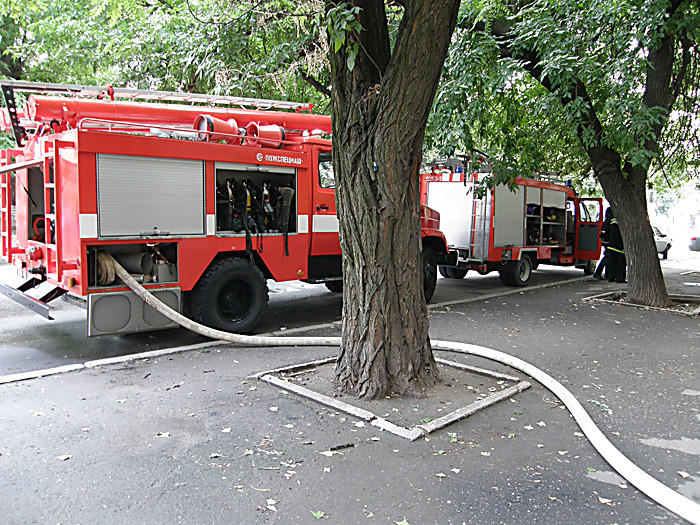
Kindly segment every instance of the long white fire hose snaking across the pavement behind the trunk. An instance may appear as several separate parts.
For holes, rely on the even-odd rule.
[[[113,262],[117,276],[119,276],[136,295],[180,326],[205,337],[247,346],[340,346],[340,337],[260,337],[233,334],[209,328],[186,318],[156,299],[148,290],[136,282],[136,280],[129,275],[129,272],[122,268],[117,261]],[[433,349],[436,350],[475,355],[508,365],[541,383],[564,403],[593,447],[623,478],[656,501],[659,505],[662,505],[694,525],[700,525],[700,505],[654,479],[627,459],[595,425],[573,394],[553,377],[522,359],[484,346],[454,343],[451,341],[431,341],[431,345]]]

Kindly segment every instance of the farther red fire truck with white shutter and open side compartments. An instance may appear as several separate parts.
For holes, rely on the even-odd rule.
[[[552,174],[517,178],[513,189],[481,186],[493,171],[486,158],[445,159],[421,174],[421,203],[440,214],[454,264],[440,274],[462,279],[469,270],[498,271],[501,281],[524,286],[540,264],[575,266],[586,275],[600,256],[602,201],[579,198]]]

